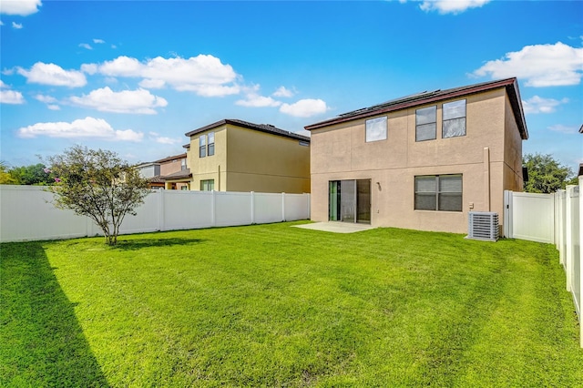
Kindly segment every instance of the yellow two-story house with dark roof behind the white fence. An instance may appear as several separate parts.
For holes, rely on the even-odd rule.
[[[186,134],[190,189],[310,192],[310,138],[223,119]]]

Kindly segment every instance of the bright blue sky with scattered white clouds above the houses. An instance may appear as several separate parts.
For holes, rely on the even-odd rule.
[[[524,152],[583,162],[583,2],[0,0],[0,160],[176,155],[222,118],[292,132],[517,77]]]

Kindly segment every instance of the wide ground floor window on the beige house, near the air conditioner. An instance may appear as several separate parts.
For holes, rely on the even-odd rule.
[[[462,211],[462,175],[415,177],[415,210]]]

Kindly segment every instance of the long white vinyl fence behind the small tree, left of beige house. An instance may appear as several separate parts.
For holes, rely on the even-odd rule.
[[[87,217],[56,209],[40,187],[0,185],[0,242],[102,235]],[[121,234],[310,219],[310,194],[154,190]]]

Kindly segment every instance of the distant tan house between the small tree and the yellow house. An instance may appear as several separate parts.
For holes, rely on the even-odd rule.
[[[138,165],[139,174],[148,179],[150,189],[189,189],[186,153]]]

